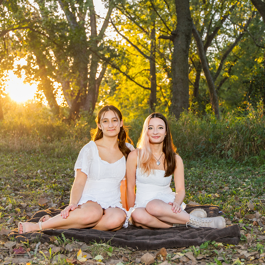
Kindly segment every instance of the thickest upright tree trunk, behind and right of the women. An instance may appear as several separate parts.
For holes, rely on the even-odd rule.
[[[191,42],[192,19],[189,0],[175,0],[177,27],[172,32],[172,100],[170,111],[178,119],[189,107],[188,52]]]

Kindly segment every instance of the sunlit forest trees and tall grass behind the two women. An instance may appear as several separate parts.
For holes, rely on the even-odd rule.
[[[0,0],[4,137],[89,138],[112,104],[135,143],[157,111],[184,157],[264,161],[264,1],[101,3]],[[37,85],[34,100],[11,102],[10,71]]]

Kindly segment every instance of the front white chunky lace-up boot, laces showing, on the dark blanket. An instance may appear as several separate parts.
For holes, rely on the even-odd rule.
[[[226,227],[226,221],[222,216],[200,218],[190,215],[190,221],[186,223],[186,226],[191,227],[212,227],[212,228],[224,228]]]

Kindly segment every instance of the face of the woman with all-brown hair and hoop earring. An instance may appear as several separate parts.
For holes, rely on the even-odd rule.
[[[97,126],[102,130],[102,133],[105,136],[118,135],[122,125],[123,120],[120,120],[118,115],[112,110],[106,111],[100,122],[97,123]]]

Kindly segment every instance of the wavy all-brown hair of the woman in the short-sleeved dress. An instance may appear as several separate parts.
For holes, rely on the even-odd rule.
[[[117,119],[120,119],[120,121],[122,120],[122,114],[121,114],[120,110],[118,110],[113,105],[106,105],[106,106],[102,107],[101,110],[98,112],[97,117],[96,117],[96,122],[100,123],[100,121],[104,117],[105,112],[109,111],[109,110],[112,110],[114,112]],[[125,156],[126,160],[127,160],[129,153],[131,152],[131,150],[126,146],[125,143],[127,142],[130,144],[133,144],[131,138],[128,135],[128,132],[129,132],[128,127],[125,125],[122,125],[122,127],[120,127],[120,132],[118,134],[119,149],[122,152],[122,154]],[[103,137],[103,132],[97,126],[96,129],[92,129],[90,131],[90,135],[91,135],[91,140],[96,141],[96,140],[99,140]]]

